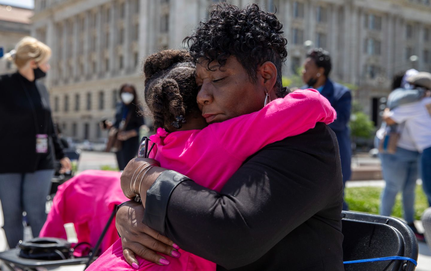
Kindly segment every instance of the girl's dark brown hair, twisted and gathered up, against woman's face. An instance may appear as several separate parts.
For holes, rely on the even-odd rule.
[[[181,128],[177,116],[200,115],[196,102],[196,65],[186,50],[167,49],[144,60],[144,99],[154,119],[154,128]]]

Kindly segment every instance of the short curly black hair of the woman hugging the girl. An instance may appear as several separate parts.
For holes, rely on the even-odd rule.
[[[213,5],[209,20],[200,22],[195,32],[184,39],[194,60],[217,61],[226,64],[235,56],[253,82],[256,70],[266,61],[277,68],[275,88],[277,95],[284,95],[281,83],[281,65],[287,57],[287,39],[281,29],[283,24],[275,13],[265,12],[257,4],[243,9],[227,3]]]

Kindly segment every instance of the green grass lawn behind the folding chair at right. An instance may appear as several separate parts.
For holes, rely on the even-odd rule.
[[[380,205],[380,194],[383,188],[381,187],[351,187],[346,188],[345,197],[349,209],[351,211],[358,212],[369,212],[378,214]],[[425,197],[422,185],[416,186],[416,197],[415,197],[415,219],[420,220],[422,212],[428,208],[428,201]],[[398,193],[397,199],[395,200],[394,209],[392,216],[403,218],[403,204],[401,202],[401,194]]]

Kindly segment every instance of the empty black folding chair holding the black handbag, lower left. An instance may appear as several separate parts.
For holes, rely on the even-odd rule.
[[[102,233],[100,234],[99,239],[97,240],[96,245],[94,246],[94,249],[92,249],[92,252],[88,257],[82,257],[82,258],[72,258],[72,259],[66,259],[66,260],[37,260],[37,259],[25,259],[19,257],[19,249],[9,249],[4,252],[0,252],[0,261],[3,261],[4,264],[10,268],[11,271],[15,271],[14,267],[21,268],[25,271],[37,271],[36,268],[39,267],[57,267],[57,266],[64,266],[64,265],[81,265],[86,264],[85,269],[94,261],[97,254],[99,254],[99,248],[100,244],[102,243],[103,237],[105,237],[106,231],[108,231],[109,225],[111,225],[112,220],[115,217],[116,214],[116,206],[114,206],[114,209],[111,213],[111,216],[108,219],[108,222],[106,222],[105,228],[103,228]]]

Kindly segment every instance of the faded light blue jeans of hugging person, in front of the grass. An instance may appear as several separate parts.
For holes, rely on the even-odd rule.
[[[413,222],[419,152],[397,148],[395,154],[379,154],[386,182],[381,194],[380,214],[390,216],[398,192],[403,193],[404,219]]]

